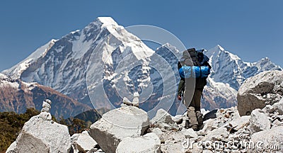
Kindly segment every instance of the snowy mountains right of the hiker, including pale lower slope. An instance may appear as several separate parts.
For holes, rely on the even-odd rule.
[[[202,106],[209,110],[236,106],[238,89],[249,77],[268,70],[282,70],[267,57],[258,62],[244,62],[220,45],[204,53],[210,57],[212,65],[202,101]]]

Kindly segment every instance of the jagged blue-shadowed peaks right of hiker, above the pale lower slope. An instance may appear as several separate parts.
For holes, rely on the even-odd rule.
[[[213,71],[210,77],[216,82],[230,84],[237,91],[243,81],[255,74],[267,70],[282,70],[267,57],[258,62],[244,62],[240,57],[224,50],[220,45],[216,45],[205,54],[210,57],[212,63]]]

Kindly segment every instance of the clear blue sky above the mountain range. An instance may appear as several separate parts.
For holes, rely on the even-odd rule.
[[[219,44],[247,62],[270,57],[283,67],[282,6],[282,0],[3,0],[0,72],[98,16],[111,16],[122,26],[164,28],[186,47],[209,49]]]

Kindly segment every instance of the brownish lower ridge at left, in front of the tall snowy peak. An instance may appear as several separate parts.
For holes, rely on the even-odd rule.
[[[36,83],[25,83],[20,79],[11,79],[0,74],[0,111],[24,113],[27,108],[41,110],[42,101],[49,98],[52,101],[51,113],[56,118],[70,116],[87,111],[90,107],[74,101],[47,86]]]

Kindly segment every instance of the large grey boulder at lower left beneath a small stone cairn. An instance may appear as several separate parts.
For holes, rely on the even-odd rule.
[[[70,140],[67,126],[55,123],[51,114],[44,111],[23,125],[7,152],[69,152]]]

